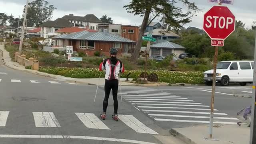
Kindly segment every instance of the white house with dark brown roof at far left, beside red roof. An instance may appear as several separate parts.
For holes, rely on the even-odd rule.
[[[57,36],[56,31],[61,28],[72,27],[73,25],[64,18],[57,18],[56,20],[48,20],[43,23],[41,27],[41,37],[50,38],[52,36]]]

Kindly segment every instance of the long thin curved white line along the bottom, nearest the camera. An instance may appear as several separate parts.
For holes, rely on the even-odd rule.
[[[143,142],[138,140],[128,140],[120,138],[102,138],[94,136],[68,136],[68,135],[15,135],[15,134],[0,134],[0,138],[54,138],[54,139],[82,139],[82,140],[100,140],[111,142],[128,142],[132,144],[157,144],[152,142]]]

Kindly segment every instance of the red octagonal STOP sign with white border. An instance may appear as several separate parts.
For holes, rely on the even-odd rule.
[[[235,30],[235,16],[226,6],[213,6],[204,14],[204,31],[211,39],[225,40]]]

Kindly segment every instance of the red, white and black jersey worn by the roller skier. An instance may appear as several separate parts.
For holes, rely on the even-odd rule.
[[[105,71],[105,79],[106,80],[118,80],[119,79],[119,73],[124,72],[124,65],[121,60],[116,59],[116,64],[112,64],[110,58],[105,59],[100,64],[100,71]]]

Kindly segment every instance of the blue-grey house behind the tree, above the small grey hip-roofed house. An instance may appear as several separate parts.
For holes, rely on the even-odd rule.
[[[175,34],[174,32],[166,32],[167,29],[163,28],[156,28],[153,30],[152,36],[153,38],[156,38],[156,43],[161,42],[167,42],[175,40],[176,38],[180,38],[178,34]],[[147,36],[149,32],[146,32],[144,36]]]

